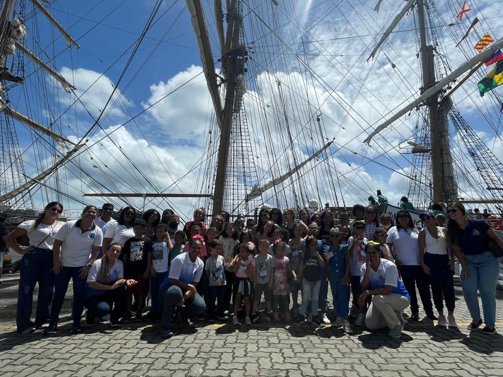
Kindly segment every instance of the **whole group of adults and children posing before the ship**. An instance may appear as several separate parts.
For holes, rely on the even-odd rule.
[[[101,216],[97,207],[87,206],[78,220],[66,223],[58,220],[62,211],[60,203],[51,202],[38,219],[6,236],[8,245],[23,255],[16,317],[20,333],[57,330],[70,279],[72,332],[81,331],[87,308],[85,325],[108,315],[113,327],[159,320],[163,337],[173,335],[175,318],[182,324],[190,319],[233,325],[332,323],[346,333],[365,325],[388,328],[391,337],[400,337],[406,308],[409,320],[421,319],[416,289],[428,319],[456,328],[454,257],[462,267],[461,287],[472,317],[468,329],[484,323],[484,333],[495,332],[499,265],[487,243],[491,239],[503,249],[503,242],[487,223],[467,218],[461,203],[447,207],[445,226],[439,226],[433,212],[422,213],[423,227],[407,209],[396,213],[395,224],[374,205],[355,205],[352,216],[339,214],[337,219],[329,210],[303,209],[296,218],[292,209],[262,208],[257,221],[243,214],[230,221],[221,212],[209,225],[200,208],[183,227],[172,210],[161,214],[151,209],[137,216],[133,207],[126,207],[114,220],[113,205],[103,205]],[[28,247],[18,243],[25,235]],[[148,297],[150,310],[143,315]]]

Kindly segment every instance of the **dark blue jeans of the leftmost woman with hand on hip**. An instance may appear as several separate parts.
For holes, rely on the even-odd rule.
[[[31,254],[24,254],[19,267],[18,305],[16,324],[18,332],[41,326],[49,319],[49,305],[54,294],[54,274],[52,273],[52,250],[36,248]],[[38,283],[37,311],[35,323],[31,320],[33,291]]]

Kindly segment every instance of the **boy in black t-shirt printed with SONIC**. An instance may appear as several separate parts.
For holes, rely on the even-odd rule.
[[[145,297],[148,293],[148,277],[150,275],[150,239],[145,237],[145,220],[135,220],[133,224],[134,237],[128,239],[122,248],[122,260],[124,262],[124,277],[134,279],[138,284],[128,289],[127,309],[123,321],[131,318],[131,306],[134,296],[136,306],[135,320],[141,321],[141,311],[144,307]]]

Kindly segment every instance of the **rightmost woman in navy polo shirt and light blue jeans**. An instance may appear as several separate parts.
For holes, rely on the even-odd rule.
[[[496,281],[499,274],[498,260],[488,251],[488,239],[493,240],[500,249],[503,241],[484,220],[467,219],[461,203],[447,207],[447,244],[461,264],[461,288],[463,297],[472,317],[468,330],[476,330],[482,324],[477,291],[482,299],[485,327],[484,334],[496,332]]]

